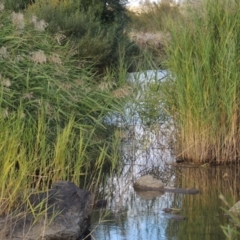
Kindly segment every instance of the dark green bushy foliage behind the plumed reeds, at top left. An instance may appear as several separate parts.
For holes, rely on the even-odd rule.
[[[51,0],[46,4],[38,0],[27,12],[44,19],[52,34],[61,32],[70,38],[78,56],[93,61],[100,69],[118,63],[120,44],[130,46],[128,17],[119,0]]]

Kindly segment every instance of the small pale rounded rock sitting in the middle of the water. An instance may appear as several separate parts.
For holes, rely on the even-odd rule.
[[[163,183],[161,180],[154,178],[151,175],[145,175],[140,177],[135,183],[134,188],[136,190],[158,190],[163,191]]]

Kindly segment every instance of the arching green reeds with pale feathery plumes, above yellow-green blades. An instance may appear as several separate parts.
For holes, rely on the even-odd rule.
[[[24,114],[33,118],[43,108],[55,123],[74,115],[85,124],[109,111],[107,102],[113,100],[96,88],[92,65],[73,56],[69,41],[61,46],[50,34],[30,26],[18,35],[4,14],[0,21],[4,25],[0,33],[0,108],[10,114],[22,106]]]

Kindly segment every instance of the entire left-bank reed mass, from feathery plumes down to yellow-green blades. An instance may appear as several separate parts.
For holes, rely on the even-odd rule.
[[[104,117],[120,107],[118,73],[100,78],[69,39],[21,12],[0,22],[0,216],[60,180],[97,191],[117,166]]]

